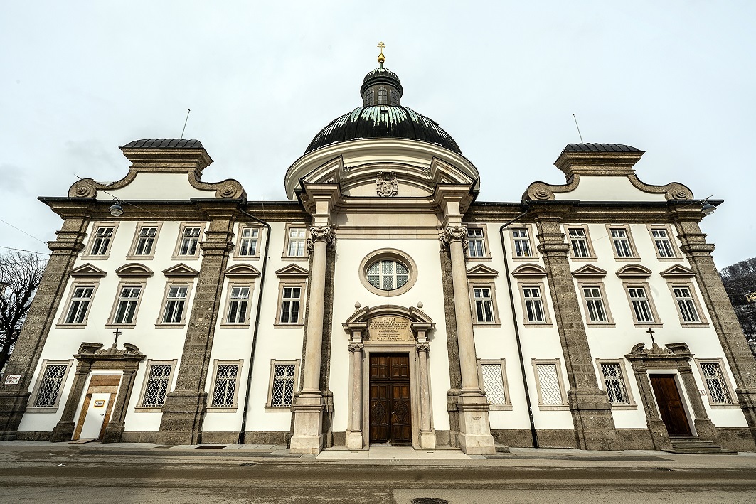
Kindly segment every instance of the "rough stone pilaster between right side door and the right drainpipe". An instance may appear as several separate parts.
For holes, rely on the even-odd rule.
[[[569,408],[575,425],[575,440],[582,450],[619,450],[606,392],[599,388],[588,346],[580,301],[569,268],[569,244],[559,220],[553,215],[537,215],[538,250],[544,267],[559,329],[559,341],[569,379]]]

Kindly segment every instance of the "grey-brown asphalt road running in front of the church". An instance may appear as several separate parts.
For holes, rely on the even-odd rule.
[[[488,463],[488,461],[487,461]],[[756,502],[756,467],[345,463],[95,450],[0,450],[0,502]]]

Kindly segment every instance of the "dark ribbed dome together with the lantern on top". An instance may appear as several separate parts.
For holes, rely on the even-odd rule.
[[[391,70],[370,70],[360,88],[362,107],[333,119],[312,139],[305,153],[359,138],[406,138],[436,144],[460,154],[454,138],[438,122],[401,106],[404,89]]]

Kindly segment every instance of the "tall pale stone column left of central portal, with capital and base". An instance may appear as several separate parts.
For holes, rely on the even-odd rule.
[[[319,453],[323,447],[323,394],[321,392],[321,354],[323,351],[323,319],[326,283],[327,248],[333,243],[329,225],[310,227],[312,266],[310,270],[310,301],[305,334],[305,369],[302,390],[291,410],[294,432],[290,450],[294,453]]]

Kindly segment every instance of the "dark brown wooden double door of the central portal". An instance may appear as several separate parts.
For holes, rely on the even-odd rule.
[[[370,354],[370,444],[412,444],[410,358]]]

